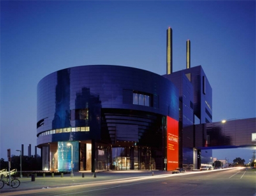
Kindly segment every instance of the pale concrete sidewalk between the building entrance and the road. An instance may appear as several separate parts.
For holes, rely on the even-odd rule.
[[[163,174],[171,174],[171,172],[161,170],[126,170],[126,171],[101,171],[95,172],[95,175],[91,172],[74,172],[74,177],[70,177],[70,174],[64,174],[58,176],[38,176],[35,181],[32,181],[32,177],[18,178],[20,180],[20,186],[17,188],[5,186],[0,189],[0,193],[23,191],[28,189],[47,189],[51,187],[62,186],[74,186],[79,184],[91,184],[93,182],[102,182],[105,180],[118,180],[123,178],[140,178],[142,176],[157,176]],[[84,176],[84,177],[83,177]]]

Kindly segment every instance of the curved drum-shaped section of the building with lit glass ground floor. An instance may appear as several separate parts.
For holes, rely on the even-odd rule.
[[[178,89],[150,71],[98,65],[51,73],[38,83],[43,169],[70,170],[68,142],[76,144],[74,170],[162,169],[166,117],[178,121],[178,105]]]

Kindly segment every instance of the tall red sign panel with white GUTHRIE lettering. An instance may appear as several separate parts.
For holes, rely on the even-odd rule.
[[[178,121],[167,116],[167,170],[178,167]]]

